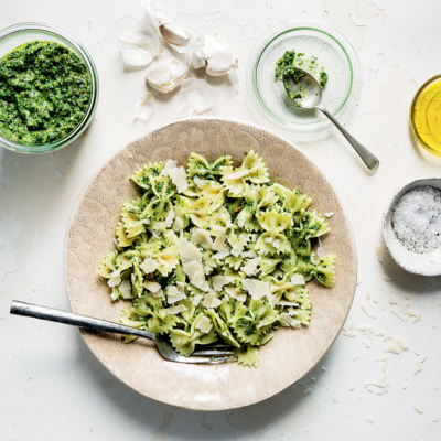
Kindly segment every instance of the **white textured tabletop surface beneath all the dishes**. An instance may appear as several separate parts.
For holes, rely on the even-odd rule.
[[[369,176],[337,133],[300,146],[331,179],[353,220],[359,284],[347,327],[323,363],[279,396],[233,412],[201,413],[129,390],[99,365],[75,329],[10,316],[12,299],[68,308],[63,236],[80,189],[121,147],[189,110],[178,93],[155,100],[148,122],[132,120],[146,96],[144,71],[125,72],[118,37],[135,26],[138,0],[77,0],[63,8],[54,0],[8,3],[0,28],[45,21],[76,35],[96,61],[101,94],[96,120],[74,146],[40,157],[0,151],[0,438],[440,439],[441,278],[407,275],[385,250],[383,263],[376,252],[394,190],[441,170],[440,160],[416,148],[408,126],[418,86],[440,73],[438,1],[161,3],[190,31],[218,33],[238,56],[237,86],[194,78],[211,101],[206,115],[259,122],[246,100],[247,55],[259,35],[287,18],[325,21],[358,52],[364,86],[347,127],[379,157],[379,171]]]

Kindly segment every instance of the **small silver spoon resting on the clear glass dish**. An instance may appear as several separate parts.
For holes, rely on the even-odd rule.
[[[326,115],[326,117],[331,119],[335,127],[349,141],[349,144],[355,149],[368,169],[377,170],[379,166],[377,157],[370,153],[369,150],[348,133],[346,129],[344,129],[343,126],[341,126],[341,123],[324,108],[322,103],[322,88],[320,87],[319,82],[309,72],[302,68],[295,67],[295,71],[304,74],[298,84],[293,84],[292,82],[292,87],[290,85],[291,93],[299,93],[299,98],[294,98],[295,104],[302,109],[319,109],[321,112]]]

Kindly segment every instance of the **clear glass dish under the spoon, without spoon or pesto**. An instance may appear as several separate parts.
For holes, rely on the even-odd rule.
[[[323,104],[340,121],[354,108],[361,90],[358,57],[351,43],[329,24],[299,20],[261,41],[247,67],[248,95],[254,108],[277,128],[299,139],[329,132],[333,125],[320,111],[298,109],[282,83],[275,78],[276,62],[286,51],[315,56],[327,73]]]

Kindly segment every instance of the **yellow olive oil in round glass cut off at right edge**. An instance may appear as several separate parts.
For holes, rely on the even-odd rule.
[[[410,108],[410,125],[418,142],[441,155],[441,75],[418,90]]]

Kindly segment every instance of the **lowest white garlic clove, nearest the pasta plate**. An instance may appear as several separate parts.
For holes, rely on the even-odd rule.
[[[146,82],[154,89],[168,94],[179,87],[189,74],[189,66],[178,58],[159,60],[150,64]]]

